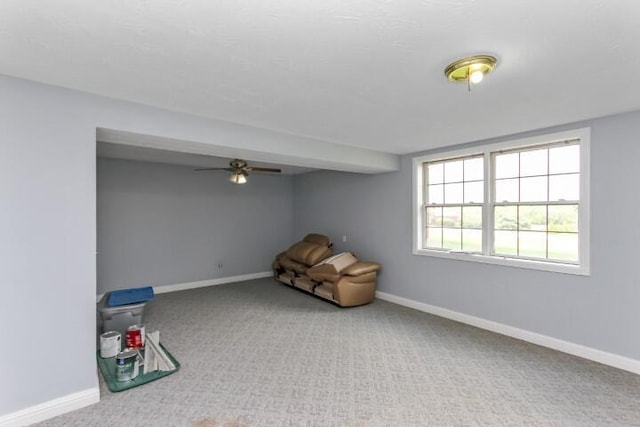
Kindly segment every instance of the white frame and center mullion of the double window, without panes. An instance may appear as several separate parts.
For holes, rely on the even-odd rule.
[[[471,156],[477,154],[484,155],[484,205],[483,205],[483,234],[487,237],[484,242],[490,242],[493,234],[493,216],[491,206],[492,194],[494,191],[493,168],[491,164],[491,153],[500,150],[522,149],[535,145],[550,144],[567,140],[580,140],[580,201],[578,213],[578,259],[579,264],[562,263],[549,260],[530,260],[517,257],[507,257],[489,255],[489,243],[483,247],[483,253],[465,253],[460,251],[446,251],[422,248],[424,232],[424,168],[426,162],[443,161],[456,157]],[[590,274],[590,128],[579,128],[563,132],[544,134],[529,138],[503,141],[493,144],[486,144],[477,147],[470,147],[460,150],[447,151],[437,154],[427,154],[413,158],[413,254],[439,258],[447,258],[462,261],[481,262],[488,264],[504,265],[509,267],[519,267],[534,270],[553,271],[558,273],[576,274],[588,276]]]

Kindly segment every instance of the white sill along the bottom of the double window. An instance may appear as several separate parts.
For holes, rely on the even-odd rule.
[[[524,268],[529,270],[551,271],[554,273],[589,276],[589,268],[584,265],[562,264],[527,259],[507,258],[503,256],[482,255],[468,252],[447,252],[431,249],[414,249],[414,255],[446,258],[458,261],[479,262],[483,264],[503,265],[506,267]]]

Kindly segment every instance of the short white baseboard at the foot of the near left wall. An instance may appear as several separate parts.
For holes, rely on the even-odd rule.
[[[28,426],[75,411],[100,401],[100,388],[94,387],[59,397],[30,408],[0,416],[1,427]]]

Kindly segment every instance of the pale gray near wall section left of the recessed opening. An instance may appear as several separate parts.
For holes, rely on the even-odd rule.
[[[98,386],[95,125],[76,94],[15,82],[0,79],[0,415]]]

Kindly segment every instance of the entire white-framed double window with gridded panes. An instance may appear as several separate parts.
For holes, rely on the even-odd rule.
[[[414,158],[414,253],[589,273],[589,129]]]

